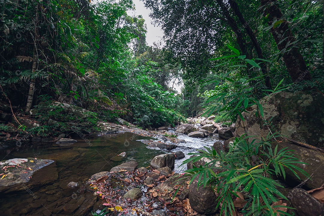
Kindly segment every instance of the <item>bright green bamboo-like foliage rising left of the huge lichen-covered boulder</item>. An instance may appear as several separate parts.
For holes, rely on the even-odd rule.
[[[211,60],[227,59],[226,62],[217,65],[225,67],[227,73],[219,72],[213,79],[207,80],[206,83],[214,83],[215,89],[205,91],[201,96],[206,98],[205,103],[208,104],[204,114],[211,115],[213,113],[224,113],[225,118],[236,121],[237,115],[242,120],[242,112],[245,112],[251,106],[255,106],[258,110],[257,114],[263,117],[263,108],[260,98],[266,96],[266,92],[277,93],[287,89],[287,86],[279,87],[284,79],[282,79],[274,90],[260,90],[263,86],[263,77],[257,76],[253,78],[239,76],[242,67],[249,69],[254,67],[260,68],[255,59],[246,59],[245,55],[240,55],[239,51],[228,45],[228,48],[235,54],[214,58]],[[267,61],[264,59],[257,59]],[[221,69],[220,69],[221,71]],[[257,88],[259,87],[259,88]]]

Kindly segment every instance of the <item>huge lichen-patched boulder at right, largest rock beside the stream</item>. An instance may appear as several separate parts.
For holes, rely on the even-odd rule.
[[[260,103],[263,107],[264,119],[271,119],[274,131],[281,131],[283,136],[304,142],[313,146],[323,147],[324,144],[324,97],[314,92],[278,92],[264,97]],[[240,137],[248,133],[249,140],[261,140],[269,133],[269,126],[260,129],[259,118],[255,116],[257,107],[251,106],[248,112],[243,112],[243,122],[239,117],[235,123],[234,136]]]

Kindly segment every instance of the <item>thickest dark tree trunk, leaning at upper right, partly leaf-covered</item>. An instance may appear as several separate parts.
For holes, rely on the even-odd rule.
[[[273,26],[271,33],[277,43],[277,47],[280,51],[284,52],[284,63],[293,82],[310,80],[311,76],[307,70],[304,58],[294,46],[296,42],[295,37],[292,35],[288,22],[283,18],[283,14],[276,4],[277,0],[260,1],[261,5],[265,6],[263,15],[269,19],[269,26]]]

